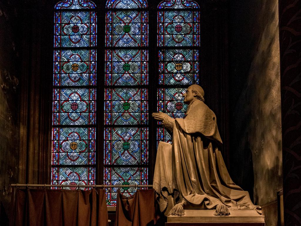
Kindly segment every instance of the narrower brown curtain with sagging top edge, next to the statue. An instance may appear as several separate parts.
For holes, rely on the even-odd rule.
[[[137,190],[129,197],[118,190],[115,226],[150,226],[155,221],[155,190]]]

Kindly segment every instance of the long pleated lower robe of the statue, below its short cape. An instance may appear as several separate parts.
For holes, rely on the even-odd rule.
[[[218,204],[231,209],[259,209],[249,193],[231,180],[214,142],[200,133],[186,133],[182,129],[184,120],[175,120],[172,140],[173,174],[183,198],[192,204],[204,203],[206,209]]]

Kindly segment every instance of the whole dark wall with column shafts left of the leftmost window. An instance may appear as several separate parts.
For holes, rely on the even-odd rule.
[[[9,184],[49,183],[53,5],[45,2],[0,1],[1,213],[10,212]]]

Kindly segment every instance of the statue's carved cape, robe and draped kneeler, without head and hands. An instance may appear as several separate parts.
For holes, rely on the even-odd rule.
[[[185,118],[163,120],[172,130],[172,145],[158,145],[154,189],[160,210],[170,210],[184,198],[191,204],[214,209],[224,204],[231,209],[254,209],[249,193],[235,185],[217,147],[222,140],[216,116],[206,104],[195,100]]]

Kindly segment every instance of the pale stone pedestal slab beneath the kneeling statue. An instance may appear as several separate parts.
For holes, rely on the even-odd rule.
[[[214,216],[215,210],[186,209],[184,216],[167,217],[166,226],[264,226],[264,216],[256,210],[229,210],[229,216]]]

